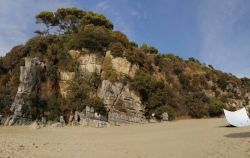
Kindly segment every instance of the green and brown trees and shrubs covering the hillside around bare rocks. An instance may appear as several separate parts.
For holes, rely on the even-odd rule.
[[[223,107],[230,105],[231,99],[244,100],[244,105],[248,104],[245,94],[250,92],[250,79],[238,79],[194,58],[183,60],[173,54],[161,54],[147,44],[138,46],[122,32],[114,31],[112,22],[101,14],[61,8],[39,13],[36,22],[44,29],[35,31],[37,35],[25,45],[14,47],[0,58],[0,114],[9,113],[19,84],[19,67],[24,65],[26,56],[38,56],[47,63],[41,82],[47,84],[50,95],[40,90],[33,95],[32,107],[34,115],[46,113],[51,119],[60,113],[82,110],[86,105],[105,113],[102,100],[95,95],[89,96],[90,92],[95,94],[103,79],[126,80],[140,96],[146,117],[155,113],[160,119],[165,111],[170,119],[183,115],[215,117],[221,115]],[[83,48],[102,57],[111,50],[114,57],[126,58],[138,65],[139,70],[133,79],[121,79],[113,70],[111,59],[105,57],[102,65],[105,73],[88,77],[76,75],[69,86],[71,93],[65,100],[58,92],[58,72],[67,70],[78,74],[78,63],[68,52]]]

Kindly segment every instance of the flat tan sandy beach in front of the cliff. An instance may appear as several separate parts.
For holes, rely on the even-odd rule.
[[[247,158],[250,128],[221,119],[110,128],[0,127],[0,158]]]

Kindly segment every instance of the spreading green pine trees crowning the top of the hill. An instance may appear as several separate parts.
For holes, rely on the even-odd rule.
[[[79,29],[89,24],[113,29],[111,21],[102,14],[86,12],[77,8],[59,8],[55,12],[40,12],[36,15],[36,22],[44,24],[46,27],[45,30],[36,31],[40,35],[78,32]]]

